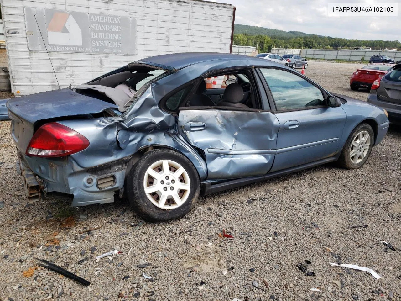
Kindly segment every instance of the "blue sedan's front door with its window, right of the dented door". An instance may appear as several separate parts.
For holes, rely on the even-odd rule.
[[[346,114],[326,105],[320,88],[300,75],[261,68],[280,128],[272,171],[318,161],[341,150]],[[271,105],[273,105],[271,104]]]

